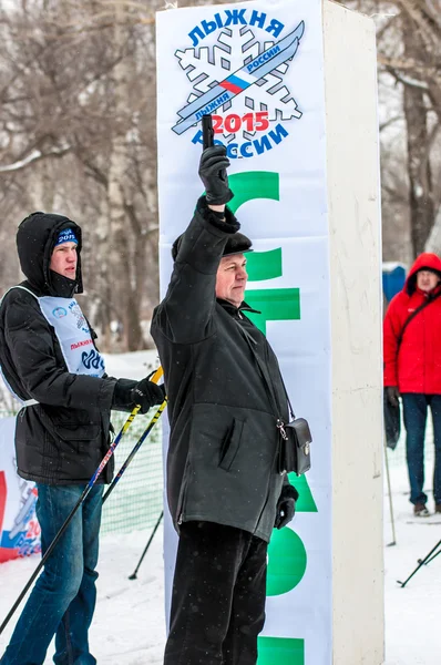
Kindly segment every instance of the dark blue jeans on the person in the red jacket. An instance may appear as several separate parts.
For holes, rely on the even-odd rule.
[[[433,499],[441,504],[441,395],[404,392],[401,395],[406,447],[410,481],[411,503],[425,503],[424,485],[424,434],[428,407],[432,411],[434,441]]]

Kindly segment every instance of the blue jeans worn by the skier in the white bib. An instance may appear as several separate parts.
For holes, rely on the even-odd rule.
[[[44,553],[85,485],[38,483],[37,516]],[[21,613],[1,665],[41,665],[55,635],[57,665],[95,665],[88,631],[95,607],[103,485],[78,509],[48,559]]]

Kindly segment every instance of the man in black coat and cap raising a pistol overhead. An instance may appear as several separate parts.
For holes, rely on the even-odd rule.
[[[280,469],[287,396],[243,301],[250,241],[225,207],[223,146],[204,151],[206,195],[173,246],[155,309],[171,424],[167,498],[180,534],[165,665],[255,665],[267,543],[298,497]]]

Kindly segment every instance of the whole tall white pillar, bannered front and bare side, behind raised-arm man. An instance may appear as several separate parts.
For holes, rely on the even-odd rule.
[[[202,194],[201,119],[211,112],[230,161],[230,209],[254,245],[245,300],[260,314],[249,318],[314,438],[310,471],[290,478],[296,518],[268,548],[258,665],[380,665],[373,22],[328,0],[253,0],[168,9],[156,27],[162,295],[171,246]],[[168,612],[176,533],[167,515],[164,524]]]

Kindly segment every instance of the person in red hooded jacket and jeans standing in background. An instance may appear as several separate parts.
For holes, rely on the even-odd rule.
[[[407,432],[410,501],[418,516],[428,516],[424,485],[424,433],[428,407],[433,420],[434,510],[441,513],[441,259],[421,254],[404,288],[384,317],[384,389],[391,405],[401,396]],[[422,305],[420,311],[417,311]],[[411,317],[409,324],[406,321]],[[406,329],[404,329],[406,327]]]

